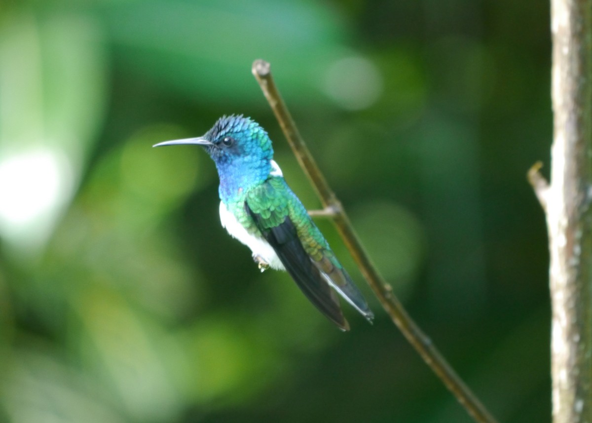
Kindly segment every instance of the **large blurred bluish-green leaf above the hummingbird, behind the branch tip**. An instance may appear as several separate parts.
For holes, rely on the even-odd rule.
[[[201,104],[259,103],[253,60],[274,65],[284,94],[320,94],[322,75],[350,50],[342,17],[310,2],[239,0],[131,2],[113,7],[108,24],[130,72],[150,76]]]

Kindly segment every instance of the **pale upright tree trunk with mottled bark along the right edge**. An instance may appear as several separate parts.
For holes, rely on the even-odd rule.
[[[553,422],[592,423],[592,0],[552,0],[551,27]]]

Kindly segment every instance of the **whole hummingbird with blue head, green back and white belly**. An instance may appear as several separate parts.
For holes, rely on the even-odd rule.
[[[304,295],[342,331],[349,330],[339,297],[369,322],[374,314],[362,293],[288,187],[267,132],[242,115],[223,116],[201,137],[157,143],[198,145],[220,177],[222,226],[252,252],[261,271],[288,271]],[[337,293],[337,294],[336,294]]]

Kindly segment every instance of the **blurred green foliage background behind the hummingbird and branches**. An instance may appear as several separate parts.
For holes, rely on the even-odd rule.
[[[199,149],[300,131],[411,315],[503,422],[550,420],[548,2],[0,3],[0,421],[470,422],[378,302],[342,334],[218,222]],[[332,225],[319,222],[366,296]],[[346,305],[344,305],[347,307]]]

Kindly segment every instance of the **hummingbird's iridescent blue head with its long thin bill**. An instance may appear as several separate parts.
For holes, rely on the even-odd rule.
[[[165,141],[155,147],[185,144],[202,146],[214,160],[220,178],[239,174],[266,178],[274,157],[267,132],[242,115],[221,117],[204,136]]]

